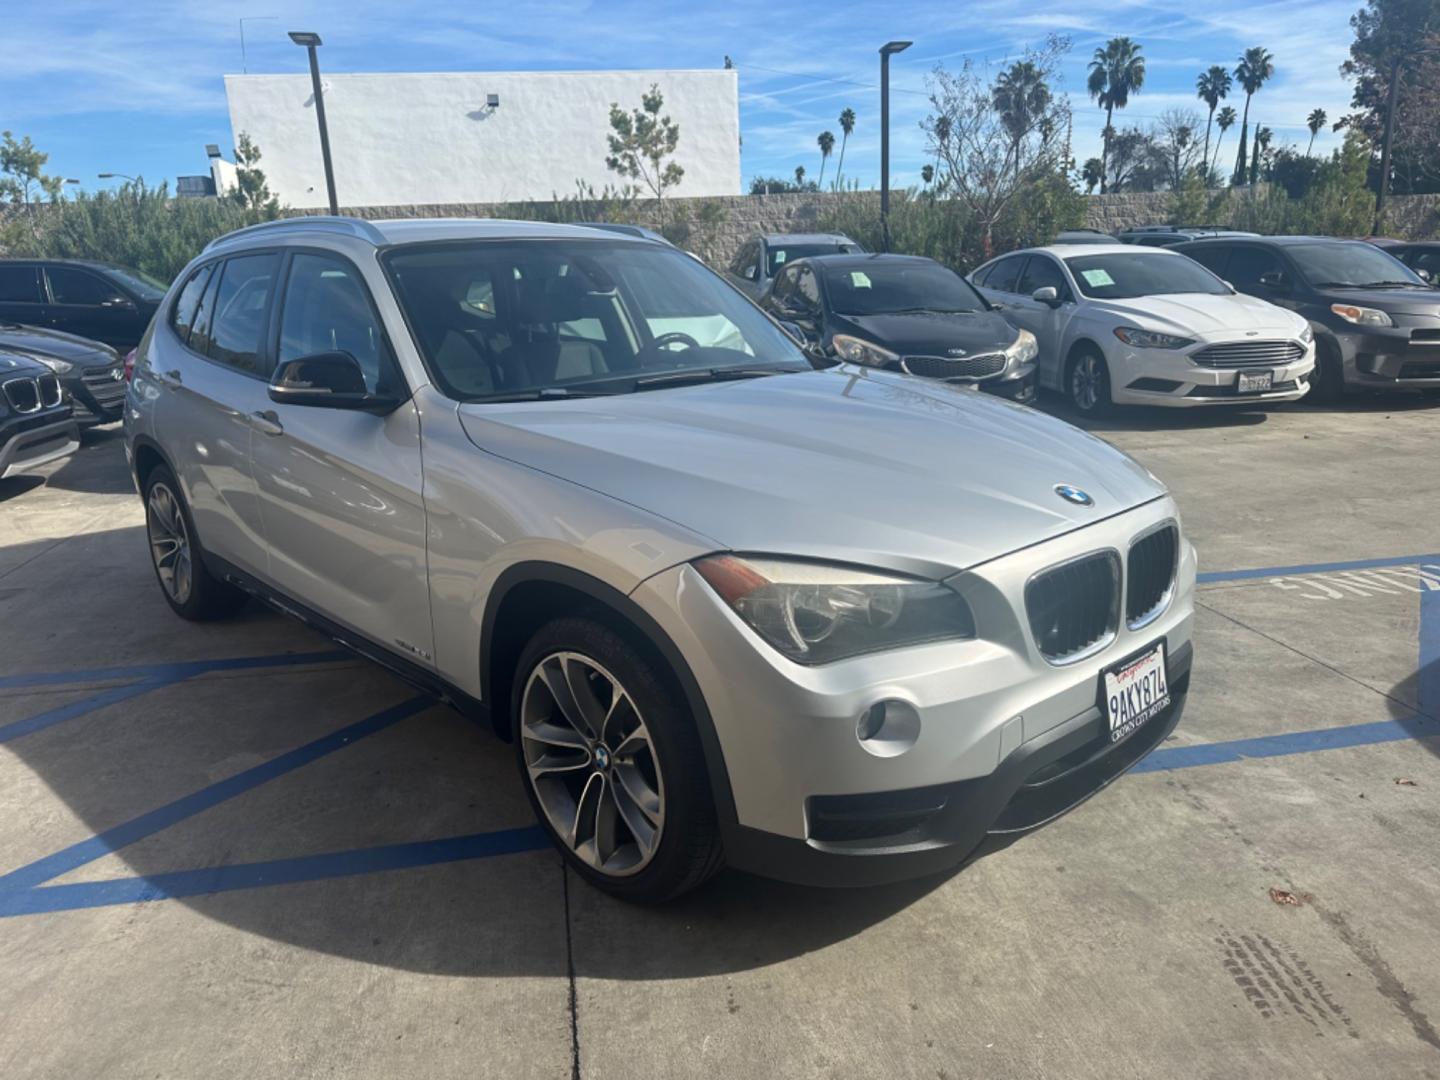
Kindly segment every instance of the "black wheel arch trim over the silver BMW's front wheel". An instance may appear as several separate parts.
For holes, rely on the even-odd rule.
[[[734,824],[734,795],[720,737],[690,664],[661,625],[634,599],[575,567],[547,562],[516,563],[501,572],[490,589],[480,628],[480,696],[490,708],[495,734],[505,742],[511,739],[514,668],[526,642],[550,619],[577,611],[619,624],[621,631],[654,651],[664,664],[694,717],[720,824]]]

